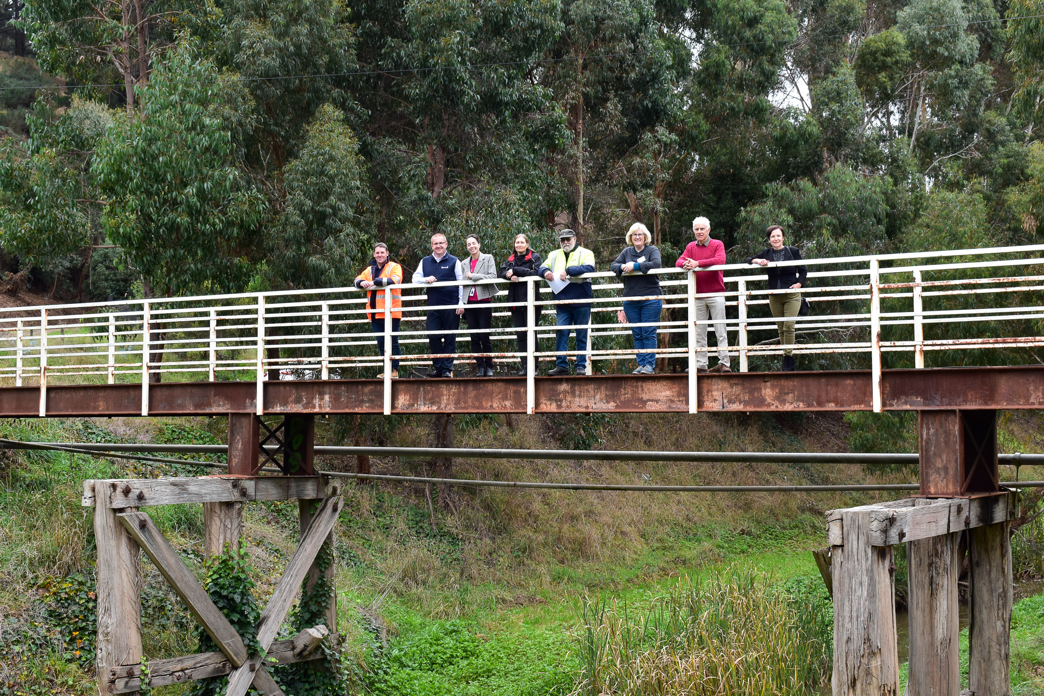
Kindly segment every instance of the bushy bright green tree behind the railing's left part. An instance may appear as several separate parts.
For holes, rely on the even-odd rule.
[[[114,119],[92,163],[106,236],[164,294],[242,289],[264,200],[232,161],[213,64],[183,46]],[[172,184],[176,184],[172,186]]]

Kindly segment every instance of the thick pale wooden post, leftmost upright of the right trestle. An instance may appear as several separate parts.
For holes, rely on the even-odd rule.
[[[831,549],[834,590],[834,696],[896,696],[895,565],[891,547],[870,542],[871,510],[839,512],[841,544]]]

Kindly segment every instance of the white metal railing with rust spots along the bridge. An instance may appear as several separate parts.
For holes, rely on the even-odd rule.
[[[870,354],[874,410],[880,411],[885,354],[911,354],[914,365],[924,367],[929,352],[1011,353],[1044,346],[1042,251],[1044,245],[1010,246],[807,259],[770,263],[769,267],[809,268],[808,283],[801,291],[812,311],[789,319],[802,337],[793,353],[836,360],[846,354],[850,358],[851,354]],[[697,294],[696,273],[718,270],[725,272],[726,291]],[[697,320],[701,298],[726,298],[729,350],[738,355],[740,371],[750,369],[752,359],[783,353],[776,319],[767,315],[765,306],[770,294],[789,290],[767,289],[761,267],[728,264],[697,271],[661,268],[654,272],[659,275],[661,294],[647,298],[663,301],[665,313],[652,323],[664,344],[644,352],[684,360],[689,368],[690,412],[696,410],[697,358],[717,351],[714,345],[695,345],[696,327],[715,323]],[[575,350],[541,350],[539,341],[553,347],[547,341],[554,340],[556,330],[588,329],[583,355],[591,370],[595,361],[604,365],[634,356],[631,328],[649,326],[617,320],[621,299],[633,298],[620,296],[622,284],[612,272],[585,278],[594,283],[594,297],[589,301],[555,302],[542,279],[520,281],[526,283],[525,328],[508,326],[509,308],[493,302],[496,322],[491,329],[438,333],[453,333],[468,347],[472,334],[487,333],[494,351],[477,353],[458,345],[452,356],[428,352],[423,321],[428,310],[458,306],[428,307],[425,291],[429,286],[424,284],[375,290],[384,295],[384,310],[371,310],[367,292],[354,287],[0,309],[0,385],[39,387],[40,414],[44,415],[48,384],[140,383],[142,413],[147,414],[152,380],[247,380],[257,385],[261,413],[269,370],[280,370],[288,379],[326,380],[367,377],[382,368],[384,412],[389,413],[394,335],[402,345],[404,367],[428,365],[433,358],[445,357],[467,362],[489,357],[501,365],[524,364],[526,410],[531,413],[539,364],[557,355],[569,360],[580,355]],[[495,301],[506,294],[506,281],[478,283],[498,286]],[[430,287],[474,284],[464,281]],[[403,313],[401,330],[395,334],[390,321],[394,290],[402,292]],[[590,322],[554,327],[554,306],[567,304],[590,304]],[[367,313],[383,313],[383,332],[373,331]],[[513,351],[515,333],[521,331],[528,338],[527,351]],[[386,347],[383,357],[376,347],[378,337]],[[982,359],[981,355],[976,359]],[[968,360],[966,353],[951,362],[969,364]]]

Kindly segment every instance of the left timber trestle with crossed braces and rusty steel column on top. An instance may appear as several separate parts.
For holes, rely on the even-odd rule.
[[[283,461],[275,460],[283,475],[258,476],[259,432],[280,432]],[[321,552],[332,547],[333,528],[343,506],[345,482],[316,476],[312,465],[312,416],[287,416],[275,429],[254,414],[234,413],[229,418],[229,474],[160,479],[112,479],[84,482],[82,504],[94,507],[97,561],[97,675],[99,694],[137,694],[142,689],[185,683],[192,679],[229,676],[228,696],[244,696],[253,687],[266,696],[282,691],[261,663],[246,653],[242,639],[207,595],[170,542],[143,508],[153,505],[197,503],[204,508],[205,549],[208,557],[227,545],[238,547],[243,535],[243,506],[250,501],[296,500],[301,517],[301,544],[287,561],[262,609],[257,639],[265,661],[291,664],[324,656],[321,644],[339,645],[336,632],[336,592],[330,599],[325,623],[301,631],[292,640],[276,641],[298,592],[310,590],[321,573],[332,577],[334,568],[321,567]],[[141,552],[200,626],[220,648],[215,652],[149,661],[143,665],[141,626]]]

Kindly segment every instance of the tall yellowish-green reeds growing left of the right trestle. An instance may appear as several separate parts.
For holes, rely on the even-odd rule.
[[[686,579],[634,618],[586,602],[570,696],[815,694],[830,674],[831,621],[750,571]]]

